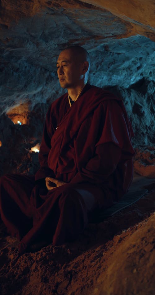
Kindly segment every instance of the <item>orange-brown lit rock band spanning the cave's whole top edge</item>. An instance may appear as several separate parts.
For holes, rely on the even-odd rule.
[[[82,2],[82,3],[80,3]],[[84,3],[85,2],[85,3]],[[91,6],[91,5],[92,6]],[[153,0],[82,0],[82,1],[13,1],[2,0],[0,21],[2,26],[11,26],[11,21],[18,21],[23,17],[34,16],[46,8],[51,10],[60,7],[70,9],[87,9],[100,7],[105,9],[124,21],[126,25],[126,37],[140,34],[155,40],[154,37],[154,1]],[[124,37],[125,37],[124,35]],[[120,38],[120,36],[118,36]]]

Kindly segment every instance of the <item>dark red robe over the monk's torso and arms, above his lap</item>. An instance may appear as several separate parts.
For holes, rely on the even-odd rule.
[[[41,168],[35,180],[51,176],[108,186],[118,200],[132,180],[131,136],[131,123],[120,98],[87,85],[70,107],[68,94],[64,94],[48,110],[39,152]]]

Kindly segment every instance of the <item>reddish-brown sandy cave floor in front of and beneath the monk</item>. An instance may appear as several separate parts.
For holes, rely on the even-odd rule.
[[[1,294],[155,294],[155,179],[135,174],[131,190],[148,188],[132,206],[91,223],[74,243],[19,255],[1,225]]]

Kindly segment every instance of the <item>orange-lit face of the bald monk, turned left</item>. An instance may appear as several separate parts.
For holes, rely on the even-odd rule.
[[[70,49],[63,50],[57,60],[57,73],[62,88],[80,85],[83,63]]]

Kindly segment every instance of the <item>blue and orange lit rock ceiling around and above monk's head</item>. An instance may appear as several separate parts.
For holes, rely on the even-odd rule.
[[[89,51],[96,86],[153,81],[154,39],[151,0],[1,0],[0,112],[60,96],[55,63],[71,44]]]

